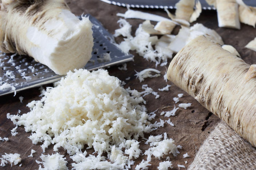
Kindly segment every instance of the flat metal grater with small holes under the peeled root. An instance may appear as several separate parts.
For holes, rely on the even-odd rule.
[[[79,17],[81,19],[81,17]],[[91,60],[85,69],[96,70],[107,66],[121,64],[133,60],[131,54],[123,53],[114,44],[113,36],[101,23],[89,15],[93,25],[94,46]],[[105,53],[110,53],[111,61],[104,61]],[[62,76],[55,74],[46,65],[36,62],[32,57],[19,54],[5,54],[0,51],[0,87],[8,83],[16,88],[16,92],[56,82]],[[0,96],[13,93],[11,88],[0,90]]]

